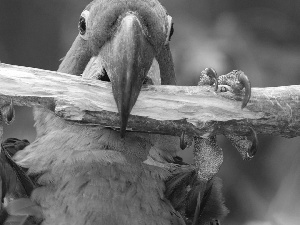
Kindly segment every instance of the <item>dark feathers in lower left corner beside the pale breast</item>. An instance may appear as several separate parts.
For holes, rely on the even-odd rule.
[[[1,178],[1,211],[0,224],[33,225],[42,221],[42,211],[29,199],[35,188],[34,182],[26,170],[17,165],[13,155],[23,150],[29,141],[8,138],[1,144],[0,178]],[[6,199],[6,205],[4,200]]]

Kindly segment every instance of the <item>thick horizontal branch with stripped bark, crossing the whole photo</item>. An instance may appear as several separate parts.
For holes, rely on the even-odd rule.
[[[46,70],[0,64],[0,106],[42,105],[84,124],[117,128],[111,84]],[[241,95],[215,93],[209,86],[148,86],[142,89],[128,129],[179,136],[234,131],[300,135],[300,86],[253,88],[247,107]]]

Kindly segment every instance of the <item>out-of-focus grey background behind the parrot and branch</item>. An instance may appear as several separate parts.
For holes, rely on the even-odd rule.
[[[300,83],[300,1],[161,0],[173,17],[171,48],[179,85],[196,85],[200,72],[243,70],[254,87]],[[0,61],[56,70],[77,35],[88,0],[0,0]],[[33,141],[32,112],[17,108],[5,137]],[[229,225],[300,224],[300,138],[259,135],[250,162],[223,137],[219,176]],[[192,151],[184,152],[191,162]]]

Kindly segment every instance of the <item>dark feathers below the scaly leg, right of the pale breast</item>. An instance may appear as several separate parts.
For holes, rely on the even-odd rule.
[[[221,188],[220,178],[206,183],[198,179],[195,170],[189,170],[173,174],[166,181],[165,195],[186,224],[204,225],[228,214]]]

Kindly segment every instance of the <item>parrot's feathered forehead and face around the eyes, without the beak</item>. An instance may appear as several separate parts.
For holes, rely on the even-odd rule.
[[[93,55],[124,26],[124,19],[134,18],[143,37],[159,53],[172,36],[172,18],[158,1],[96,0],[80,16],[80,36],[89,42]],[[84,22],[85,21],[85,22]],[[133,21],[132,21],[133,22]]]

